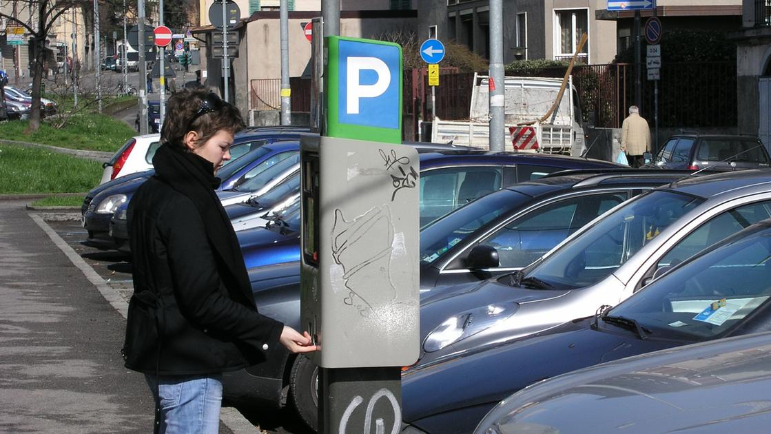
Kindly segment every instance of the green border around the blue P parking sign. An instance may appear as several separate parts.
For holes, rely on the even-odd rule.
[[[338,82],[340,78],[339,42],[365,42],[368,44],[391,45],[399,49],[399,128],[382,128],[379,126],[363,126],[351,123],[341,123],[338,113]],[[393,42],[375,41],[373,39],[345,38],[342,36],[327,36],[324,39],[327,59],[325,64],[325,93],[327,99],[327,130],[326,136],[341,139],[370,140],[384,143],[402,143],[402,46]]]

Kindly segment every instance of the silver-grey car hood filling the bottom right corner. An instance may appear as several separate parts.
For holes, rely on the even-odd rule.
[[[764,432],[771,333],[635,355],[558,375],[503,399],[475,434]]]

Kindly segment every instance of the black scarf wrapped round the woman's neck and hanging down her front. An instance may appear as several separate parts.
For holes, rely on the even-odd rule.
[[[249,275],[244,265],[244,256],[238,245],[230,218],[214,193],[220,187],[220,178],[214,177],[214,164],[197,154],[186,152],[180,146],[164,143],[153,156],[156,176],[174,190],[193,201],[200,217],[204,220],[206,235],[214,247],[214,256],[230,271],[229,276],[221,275],[231,294],[231,284],[237,285],[237,294],[254,306]]]

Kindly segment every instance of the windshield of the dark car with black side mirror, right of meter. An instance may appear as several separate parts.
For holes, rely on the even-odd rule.
[[[420,231],[420,262],[430,264],[469,234],[531,197],[513,190],[499,190],[454,210]]]

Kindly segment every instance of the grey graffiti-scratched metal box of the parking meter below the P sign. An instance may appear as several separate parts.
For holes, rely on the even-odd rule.
[[[322,368],[419,352],[419,160],[411,146],[301,140],[301,317]]]

